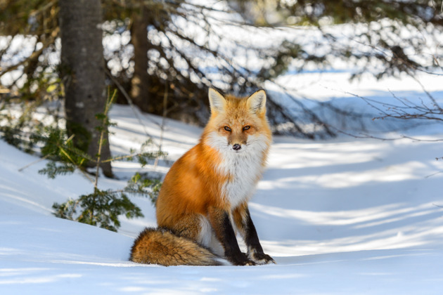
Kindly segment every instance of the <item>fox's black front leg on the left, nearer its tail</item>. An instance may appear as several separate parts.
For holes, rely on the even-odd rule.
[[[209,211],[209,219],[217,239],[224,248],[226,259],[234,265],[255,265],[254,261],[240,251],[228,212],[212,207]]]

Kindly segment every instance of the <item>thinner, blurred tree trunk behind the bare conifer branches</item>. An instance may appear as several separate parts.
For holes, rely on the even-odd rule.
[[[131,79],[131,97],[144,112],[152,112],[148,103],[148,13],[146,7],[134,13],[131,26],[131,42],[134,46],[134,76]]]

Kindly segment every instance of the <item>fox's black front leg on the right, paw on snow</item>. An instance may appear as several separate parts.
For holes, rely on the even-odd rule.
[[[246,246],[248,246],[248,257],[257,264],[276,263],[271,256],[264,254],[257,230],[255,230],[254,223],[252,223],[248,205],[244,204],[234,210],[233,218]]]

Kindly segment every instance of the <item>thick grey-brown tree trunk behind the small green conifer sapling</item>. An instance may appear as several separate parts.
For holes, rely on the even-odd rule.
[[[106,101],[103,59],[103,32],[100,0],[59,0],[61,33],[61,74],[65,85],[65,113],[68,135],[96,159],[101,122]],[[108,134],[101,159],[110,158]],[[94,163],[88,163],[94,166]],[[113,176],[110,162],[101,164],[105,176]]]

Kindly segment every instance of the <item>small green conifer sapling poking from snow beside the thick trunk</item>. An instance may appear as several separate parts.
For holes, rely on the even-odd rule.
[[[82,171],[84,176],[91,183],[94,183],[94,192],[87,195],[81,195],[77,199],[70,199],[62,204],[53,204],[54,215],[60,218],[79,221],[90,225],[96,225],[108,230],[117,231],[120,227],[119,216],[124,215],[127,218],[143,217],[139,206],[131,202],[129,195],[142,195],[149,197],[153,204],[160,191],[160,180],[150,178],[147,174],[136,173],[122,190],[101,190],[98,188],[99,167],[103,162],[112,162],[115,160],[138,161],[141,166],[146,166],[150,161],[158,157],[165,157],[165,153],[159,151],[152,152],[148,148],[151,146],[150,140],[141,146],[140,152],[131,150],[130,155],[113,157],[110,159],[101,159],[101,149],[103,134],[108,132],[106,126],[113,125],[108,117],[108,112],[115,98],[108,98],[103,114],[97,114],[96,118],[101,122],[98,130],[101,131],[99,150],[96,158],[93,159],[85,152],[74,147],[72,137],[68,138],[65,130],[58,128],[46,128],[44,132],[34,134],[32,141],[42,145],[41,154],[50,159],[46,168],[41,169],[39,173],[45,174],[49,178],[55,178],[58,175],[73,173],[76,169]],[[87,173],[84,164],[92,162],[96,164],[96,173],[94,176]]]

